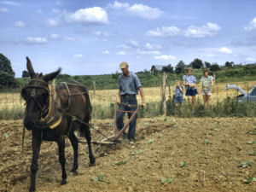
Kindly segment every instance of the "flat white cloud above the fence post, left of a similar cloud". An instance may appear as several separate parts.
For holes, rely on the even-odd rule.
[[[147,36],[169,37],[176,36],[181,33],[181,30],[177,26],[162,26],[156,28],[154,31],[146,32]]]

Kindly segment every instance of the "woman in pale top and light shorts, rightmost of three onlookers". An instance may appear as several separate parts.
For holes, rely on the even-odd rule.
[[[209,75],[210,71],[209,69],[204,69],[203,74],[204,76],[200,79],[200,84],[198,86],[201,86],[201,95],[203,96],[205,107],[210,106],[210,98],[212,96],[212,86],[213,86],[213,78]]]

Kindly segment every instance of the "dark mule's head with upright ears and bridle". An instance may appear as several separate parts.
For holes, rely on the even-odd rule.
[[[24,125],[31,130],[38,124],[39,119],[44,117],[49,106],[49,86],[48,82],[55,79],[61,72],[61,68],[53,73],[43,75],[35,73],[32,63],[26,57],[26,68],[30,75],[30,82],[21,90],[21,97],[26,101],[26,115]]]

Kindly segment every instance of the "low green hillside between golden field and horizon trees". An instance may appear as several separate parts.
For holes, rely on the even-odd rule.
[[[158,67],[161,67],[160,65]],[[168,73],[168,83],[174,84],[176,79],[182,80],[184,73]],[[196,79],[201,79],[202,69],[195,69],[194,75]],[[162,74],[152,74],[148,71],[137,73],[144,87],[160,86],[162,83]],[[96,82],[97,90],[109,90],[118,88],[119,73],[105,74],[105,75],[74,75],[61,74],[57,82],[75,80],[84,84],[88,89],[93,89],[93,82]],[[17,79],[20,87],[29,82],[29,78]],[[216,83],[233,83],[242,81],[256,80],[256,64],[237,65],[235,67],[220,67],[220,71],[216,72]],[[20,88],[19,88],[20,89]]]

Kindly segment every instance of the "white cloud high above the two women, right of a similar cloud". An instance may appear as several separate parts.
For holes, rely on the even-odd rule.
[[[207,24],[204,26],[189,26],[185,31],[184,36],[189,38],[211,37],[216,35],[220,29],[221,27],[217,24],[207,22]]]

